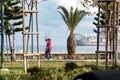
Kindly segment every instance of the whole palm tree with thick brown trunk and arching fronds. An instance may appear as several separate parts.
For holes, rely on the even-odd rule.
[[[70,31],[70,34],[67,38],[68,58],[75,59],[76,38],[74,35],[74,30],[77,27],[78,23],[83,19],[83,17],[90,13],[84,10],[78,10],[78,8],[74,10],[72,6],[70,7],[70,12],[64,6],[59,6],[58,9],[62,10],[62,12],[58,12],[61,14],[64,22],[67,24],[68,29]]]

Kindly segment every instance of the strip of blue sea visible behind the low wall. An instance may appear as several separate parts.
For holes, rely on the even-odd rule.
[[[31,52],[32,48],[29,46],[28,51]],[[76,46],[76,52],[95,52],[97,50],[96,46]],[[100,46],[99,50],[105,50],[104,46]],[[15,52],[22,52],[23,46],[15,46]],[[36,46],[34,46],[33,52],[37,51]],[[40,45],[40,52],[45,51],[45,45]],[[120,52],[120,46],[118,46],[118,51]],[[52,52],[67,52],[67,46],[66,45],[53,45],[52,46]]]

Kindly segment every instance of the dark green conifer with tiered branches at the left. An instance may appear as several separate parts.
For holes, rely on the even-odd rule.
[[[22,7],[20,2],[16,0],[8,0],[4,4],[4,29],[6,40],[8,38],[9,49],[11,53],[11,61],[14,61],[14,42],[15,32],[22,31]],[[18,27],[20,25],[20,27]],[[6,43],[7,45],[7,43]]]

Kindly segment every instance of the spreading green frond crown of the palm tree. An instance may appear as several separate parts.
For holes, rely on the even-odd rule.
[[[78,23],[83,19],[85,15],[90,14],[85,10],[78,10],[78,8],[74,10],[72,6],[70,7],[70,12],[63,6],[59,6],[58,9],[61,9],[63,11],[63,13],[60,11],[58,12],[61,14],[63,20],[67,24],[70,33],[74,32]]]

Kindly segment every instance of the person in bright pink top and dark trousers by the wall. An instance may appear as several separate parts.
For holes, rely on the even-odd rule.
[[[52,53],[51,53],[52,42],[51,42],[51,39],[48,38],[45,41],[46,41],[45,58],[48,60],[52,60]]]

